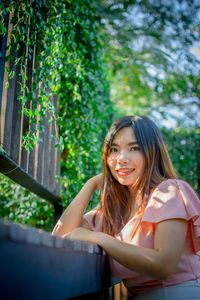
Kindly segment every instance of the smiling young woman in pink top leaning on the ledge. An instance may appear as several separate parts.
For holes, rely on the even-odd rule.
[[[100,205],[84,215],[97,188]],[[200,200],[176,179],[147,117],[126,116],[111,126],[102,174],[86,182],[53,234],[99,244],[130,299],[200,299]]]

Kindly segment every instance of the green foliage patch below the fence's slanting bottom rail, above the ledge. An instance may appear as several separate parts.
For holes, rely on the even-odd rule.
[[[0,176],[0,218],[45,230],[52,229],[53,205]]]

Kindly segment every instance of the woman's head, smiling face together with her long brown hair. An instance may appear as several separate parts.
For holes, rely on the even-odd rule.
[[[132,168],[131,174],[122,172],[127,167]],[[147,117],[126,116],[114,122],[103,146],[97,210],[103,211],[106,233],[114,235],[131,216],[142,212],[150,191],[167,178],[176,175],[156,125]]]

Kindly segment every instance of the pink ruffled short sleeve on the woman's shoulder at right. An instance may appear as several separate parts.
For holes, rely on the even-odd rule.
[[[158,185],[149,199],[142,222],[157,223],[167,219],[189,221],[191,248],[194,253],[200,251],[200,200],[191,186],[182,180],[168,179]]]

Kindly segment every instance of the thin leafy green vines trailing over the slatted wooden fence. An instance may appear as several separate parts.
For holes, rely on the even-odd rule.
[[[29,128],[23,136],[23,146],[26,150],[34,148],[38,136],[44,130],[43,123],[47,116],[49,123],[53,120],[58,121],[52,100],[60,86],[58,57],[55,55],[55,50],[52,53],[52,43],[56,44],[56,42],[51,41],[56,13],[54,5],[52,1],[38,0],[6,1],[1,5],[1,19],[3,20],[6,13],[9,13],[12,26],[5,71],[8,72],[8,79],[11,80],[15,72],[10,65],[20,68],[21,80],[18,94],[18,100],[22,105],[20,112],[29,119]],[[5,33],[6,28],[1,22],[1,35]],[[28,70],[32,73],[30,82],[27,65],[32,64],[34,64],[33,70]],[[9,81],[6,87],[9,87]],[[57,140],[57,144],[62,144],[62,139],[58,139],[57,136],[53,138]]]

